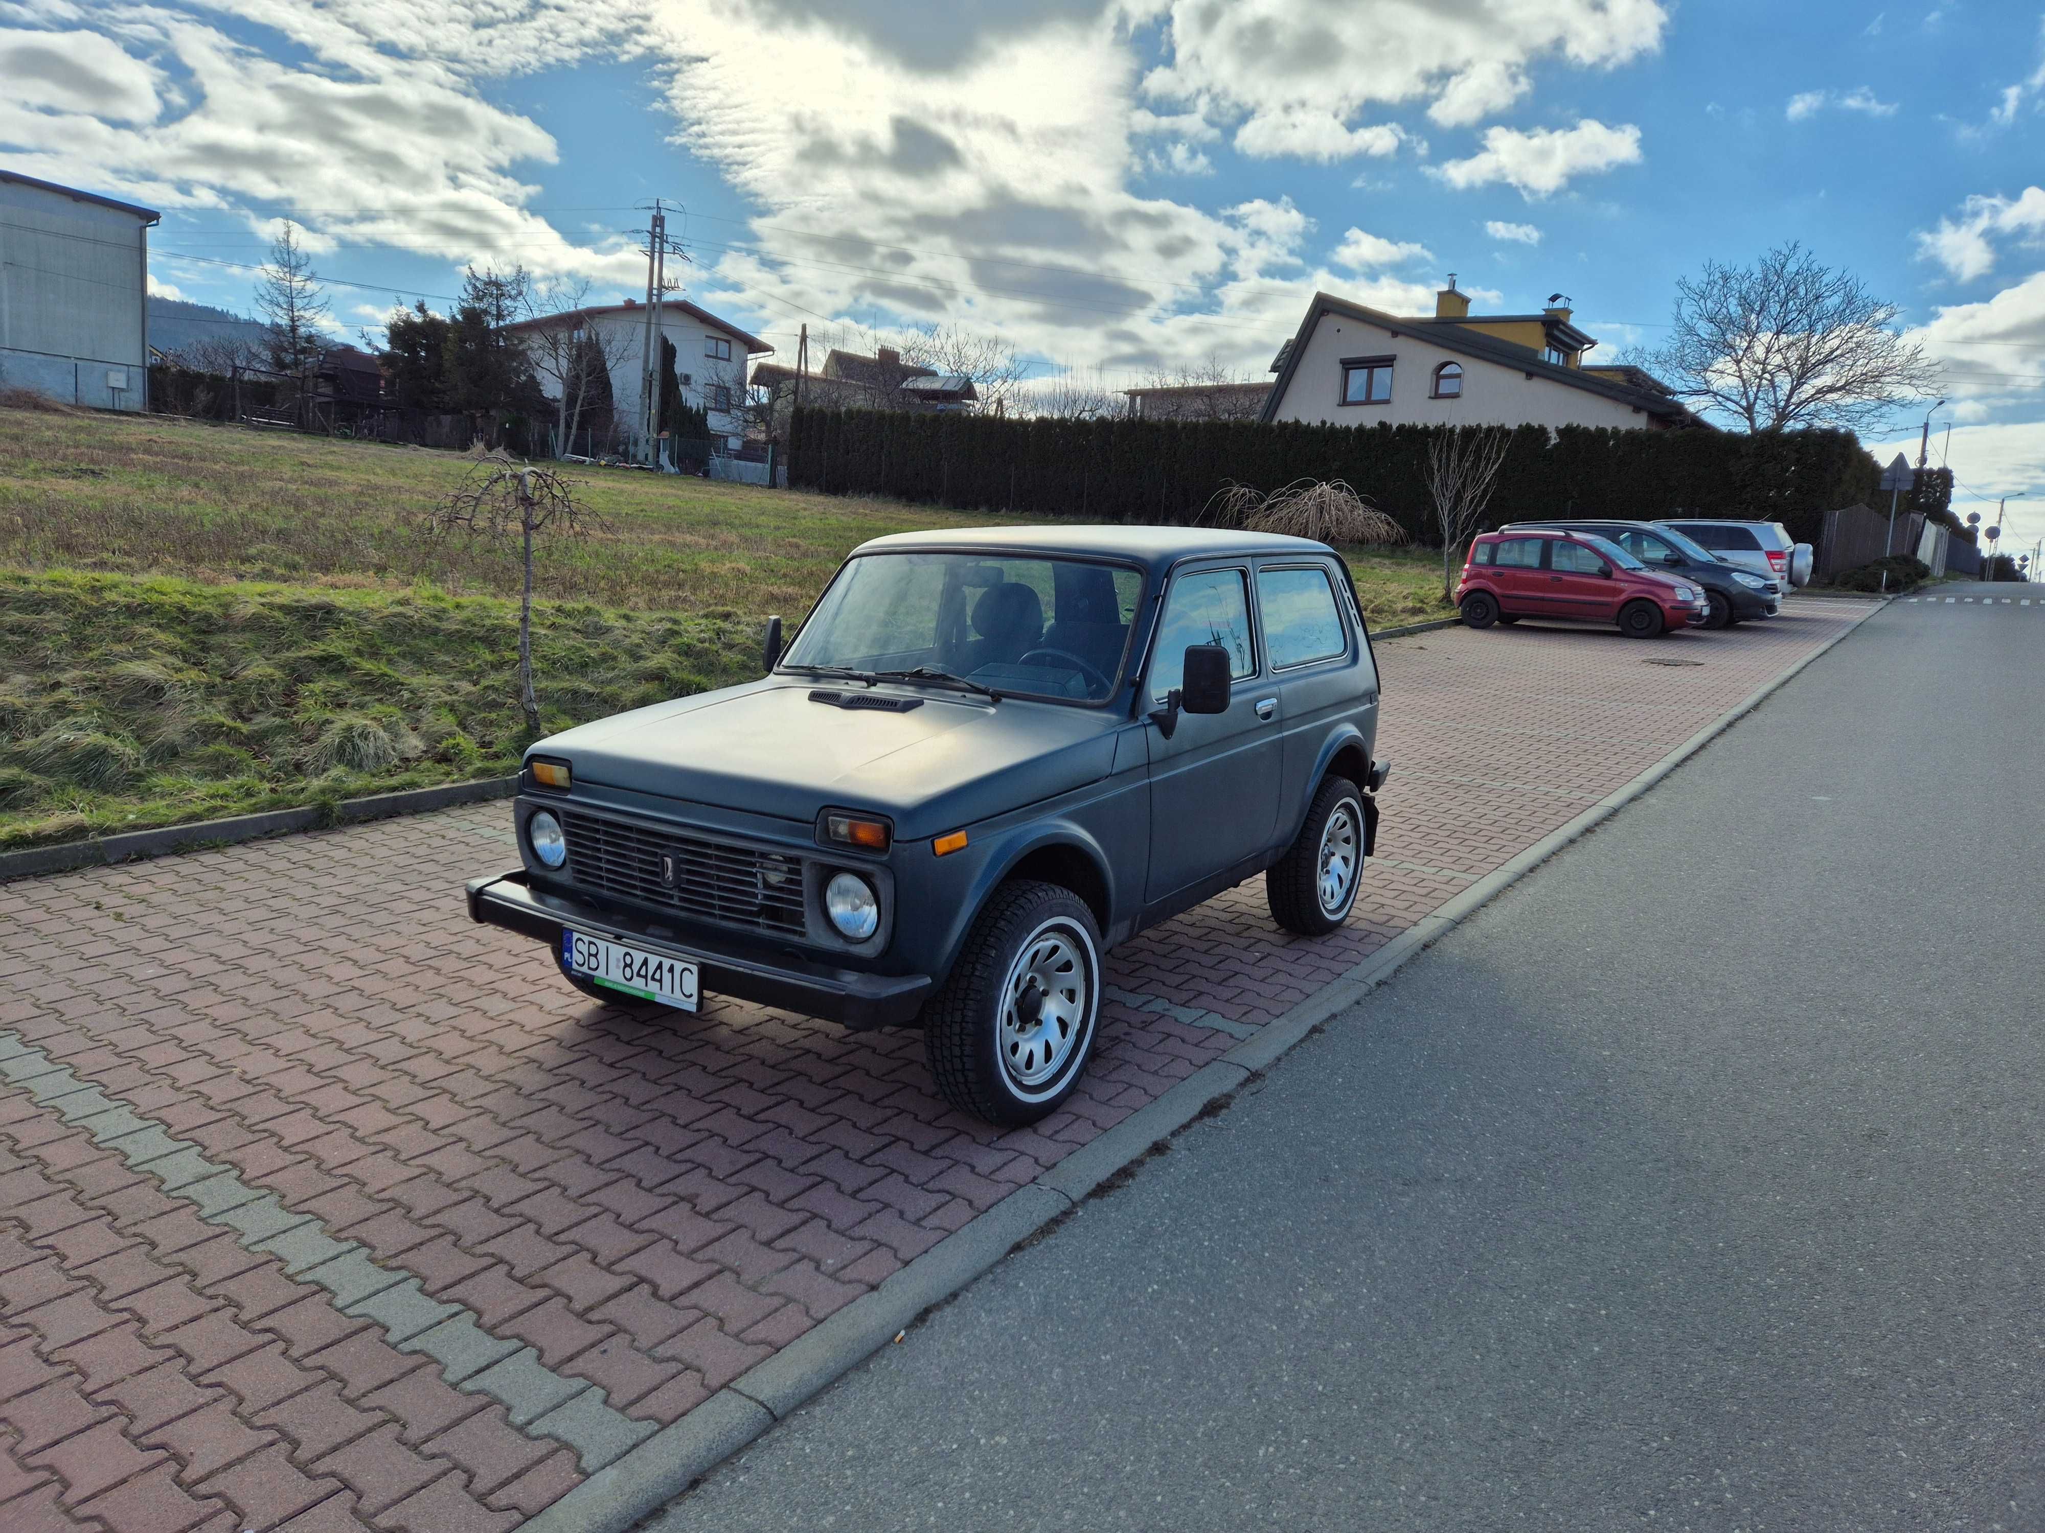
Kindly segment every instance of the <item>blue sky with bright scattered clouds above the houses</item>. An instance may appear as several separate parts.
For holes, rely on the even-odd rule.
[[[1446,272],[1571,294],[1611,356],[1800,239],[1902,307],[1935,460],[1951,423],[2045,538],[2035,6],[0,0],[0,164],[164,208],[166,290],[245,309],[290,217],[350,329],[466,260],[636,292],[656,194],[689,294],[783,352],[957,321],[1108,386],[1262,374],[1315,286],[1411,311]]]

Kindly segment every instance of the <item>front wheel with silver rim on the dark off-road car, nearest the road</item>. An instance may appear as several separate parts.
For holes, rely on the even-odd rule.
[[[1002,1128],[1057,1110],[1094,1053],[1100,983],[1086,901],[1055,883],[1004,883],[924,1008],[939,1096]]]

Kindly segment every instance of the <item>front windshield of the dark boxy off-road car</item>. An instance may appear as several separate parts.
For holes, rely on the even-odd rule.
[[[1100,703],[1121,681],[1141,597],[1143,574],[1121,564],[861,554],[779,668]]]

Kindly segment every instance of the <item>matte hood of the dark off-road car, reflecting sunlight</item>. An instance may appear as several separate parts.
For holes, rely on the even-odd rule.
[[[824,807],[875,809],[912,838],[1037,803],[1108,775],[1121,713],[939,687],[881,685],[904,713],[812,703],[859,683],[769,677],[656,703],[542,740],[579,783],[810,822]],[[1027,769],[1027,771],[1016,771]]]

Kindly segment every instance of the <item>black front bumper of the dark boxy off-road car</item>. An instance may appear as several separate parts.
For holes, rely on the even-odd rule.
[[[706,995],[777,1006],[804,1016],[820,1016],[847,1028],[890,1028],[912,1022],[930,993],[928,975],[869,975],[834,969],[783,953],[706,953],[697,946],[654,936],[648,924],[611,910],[597,910],[532,887],[524,869],[495,879],[468,881],[468,918],[552,946],[560,961],[560,928],[630,942],[648,953],[687,959],[697,967]]]

